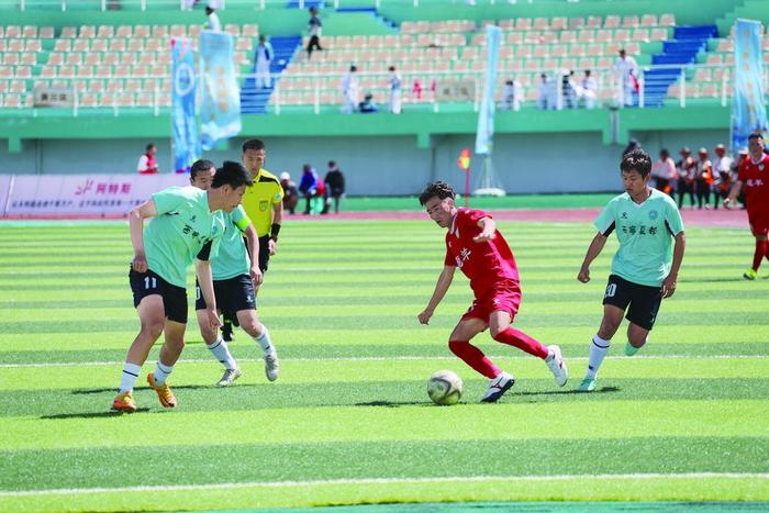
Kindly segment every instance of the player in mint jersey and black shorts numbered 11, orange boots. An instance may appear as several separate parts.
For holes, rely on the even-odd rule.
[[[112,402],[114,410],[136,411],[133,388],[149,349],[165,333],[155,371],[147,382],[157,392],[160,404],[176,406],[176,398],[166,378],[185,346],[187,325],[187,267],[196,260],[196,270],[207,299],[208,323],[220,325],[209,258],[215,255],[224,234],[222,212],[232,212],[242,201],[248,172],[236,163],[225,163],[216,172],[211,189],[169,187],[129,214],[134,258],[129,278],[142,327],[129,348],[120,383]],[[151,219],[146,228],[144,220]]]

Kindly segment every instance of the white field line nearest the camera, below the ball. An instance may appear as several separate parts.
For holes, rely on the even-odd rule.
[[[769,473],[739,472],[684,472],[684,473],[603,473],[603,475],[554,475],[554,476],[456,476],[443,478],[361,478],[361,479],[319,479],[307,481],[246,481],[205,484],[158,484],[115,488],[57,488],[48,490],[0,490],[0,497],[67,495],[71,493],[130,493],[168,492],[191,490],[229,490],[238,488],[290,488],[338,484],[409,484],[442,482],[491,482],[491,481],[573,481],[580,479],[605,480],[655,480],[655,479],[767,479]]]

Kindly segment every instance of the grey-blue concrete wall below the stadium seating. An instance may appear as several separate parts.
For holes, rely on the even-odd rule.
[[[727,143],[725,130],[633,132],[656,158],[661,147],[677,156],[681,146],[693,152]],[[232,140],[230,149],[204,155],[215,163],[239,159],[243,138]],[[294,179],[302,165],[313,165],[325,174],[326,163],[336,160],[347,175],[350,196],[413,194],[432,179],[447,180],[464,188],[457,157],[464,147],[472,148],[471,135],[433,135],[432,147],[416,147],[414,136],[359,137],[265,137],[267,169],[289,171]],[[23,140],[21,153],[0,150],[5,174],[133,174],[148,141],[143,140]],[[155,140],[161,171],[170,168],[168,140]],[[616,190],[618,159],[624,146],[604,145],[600,133],[499,134],[493,167],[503,188],[523,192],[591,192]],[[473,177],[482,158],[473,156]],[[475,185],[475,179],[473,179]]]

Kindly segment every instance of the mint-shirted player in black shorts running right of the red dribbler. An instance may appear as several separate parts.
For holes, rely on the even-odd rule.
[[[683,259],[681,214],[668,194],[649,187],[649,155],[633,149],[623,155],[620,169],[625,192],[613,198],[595,220],[598,234],[577,276],[582,283],[590,281],[590,263],[601,253],[609,235],[616,232],[620,249],[612,260],[603,295],[603,320],[590,345],[588,373],[577,388],[580,392],[595,389],[598,369],[625,311],[629,321],[625,354],[633,356],[646,344],[662,299],[676,291]]]

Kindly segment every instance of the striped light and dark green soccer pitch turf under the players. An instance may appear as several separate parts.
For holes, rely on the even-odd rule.
[[[140,412],[120,415],[109,408],[138,327],[126,225],[0,225],[0,511],[769,501],[769,266],[742,279],[749,233],[688,228],[678,291],[647,347],[625,357],[623,324],[599,389],[575,394],[616,244],[581,285],[589,225],[500,228],[521,270],[515,326],[561,346],[562,389],[545,364],[482,334],[517,381],[478,404],[487,381],[446,344],[467,280],[457,274],[430,326],[416,321],[443,266],[434,224],[303,221],[285,224],[259,295],[280,379],[266,380],[237,331],[244,376],[214,388],[221,365],[191,314],[169,379],[179,406],[164,410],[142,376]],[[456,406],[426,397],[444,368],[465,380]]]

